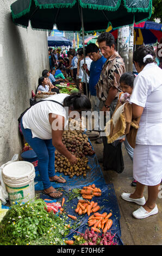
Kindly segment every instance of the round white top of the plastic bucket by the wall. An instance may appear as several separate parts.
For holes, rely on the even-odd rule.
[[[30,176],[33,172],[35,172],[34,165],[27,161],[11,162],[3,168],[3,175],[10,179]]]

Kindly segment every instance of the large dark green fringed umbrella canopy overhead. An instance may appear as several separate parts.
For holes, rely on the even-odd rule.
[[[81,31],[83,11],[84,31],[104,31],[132,25],[149,19],[152,0],[17,0],[11,4],[16,25],[33,29]]]

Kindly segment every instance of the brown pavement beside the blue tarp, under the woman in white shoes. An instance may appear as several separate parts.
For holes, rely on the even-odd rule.
[[[96,144],[92,140],[91,143],[96,151],[97,158],[101,159],[103,156],[103,143]],[[100,163],[105,182],[107,184],[113,183],[114,185],[121,215],[121,239],[124,245],[162,245],[162,186],[161,192],[159,191],[159,198],[157,199],[158,214],[140,220],[134,218],[132,212],[140,206],[133,202],[126,202],[121,198],[123,192],[133,193],[135,190],[135,187],[130,185],[133,180],[133,164],[124,148],[124,144],[122,145],[122,153],[124,170],[121,174],[113,170],[103,170],[103,166]],[[145,187],[144,196],[147,199],[147,186]]]

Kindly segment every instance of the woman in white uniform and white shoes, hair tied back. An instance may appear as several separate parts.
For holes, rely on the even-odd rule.
[[[134,80],[130,103],[133,117],[141,117],[133,159],[137,184],[134,193],[122,193],[121,197],[142,205],[133,216],[146,218],[158,213],[155,202],[162,178],[162,70],[154,63],[154,52],[146,46],[134,52],[133,61],[139,75]],[[145,185],[147,201],[143,195]]]

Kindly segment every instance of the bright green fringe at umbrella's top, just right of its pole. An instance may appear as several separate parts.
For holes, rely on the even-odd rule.
[[[112,1],[111,1],[112,2]],[[91,3],[83,3],[82,0],[79,0],[79,4],[82,8],[90,8],[96,10],[108,10],[108,11],[116,11],[121,4],[121,0],[118,0],[115,7],[109,5],[99,5],[99,4],[91,4]]]

